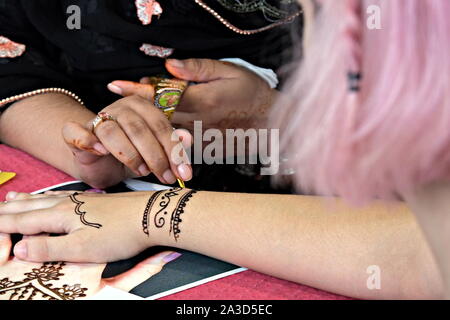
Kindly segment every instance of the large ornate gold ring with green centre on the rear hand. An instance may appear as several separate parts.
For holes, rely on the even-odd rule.
[[[155,89],[153,103],[170,120],[180,104],[181,96],[186,90],[188,82],[180,79],[151,77],[150,84]]]

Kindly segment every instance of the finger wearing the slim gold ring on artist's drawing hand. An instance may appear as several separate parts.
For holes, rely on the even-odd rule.
[[[139,176],[147,176],[150,169],[133,143],[116,121],[105,121],[98,125],[95,134],[109,152]]]

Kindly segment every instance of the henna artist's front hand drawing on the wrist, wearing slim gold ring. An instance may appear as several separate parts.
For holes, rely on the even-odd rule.
[[[172,125],[148,97],[126,97],[102,111],[116,121],[99,124],[95,133],[92,121],[69,122],[63,128],[64,140],[74,154],[83,181],[105,187],[111,181],[150,173],[164,184],[192,178],[187,161],[180,164],[172,159],[172,150],[179,142],[172,140]],[[179,131],[176,134],[185,135]]]

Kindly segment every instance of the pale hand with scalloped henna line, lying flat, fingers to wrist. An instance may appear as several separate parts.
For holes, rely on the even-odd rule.
[[[143,232],[148,192],[127,194],[67,192],[53,195],[19,193],[0,203],[0,233],[58,237],[32,237],[14,247],[26,261],[104,263],[133,257],[157,245],[158,232]]]

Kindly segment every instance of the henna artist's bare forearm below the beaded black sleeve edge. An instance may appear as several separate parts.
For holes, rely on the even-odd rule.
[[[72,174],[72,154],[62,138],[62,127],[68,121],[87,123],[93,117],[91,111],[63,94],[27,98],[0,115],[0,141]]]

